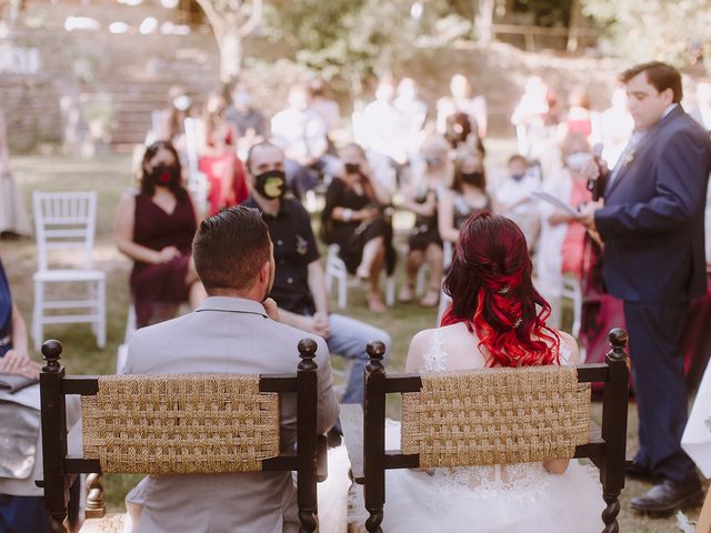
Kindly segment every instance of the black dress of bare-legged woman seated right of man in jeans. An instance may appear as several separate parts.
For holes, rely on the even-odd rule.
[[[333,220],[331,214],[336,208],[359,211],[367,207],[381,210],[379,217],[370,221],[343,221]],[[353,274],[361,262],[363,247],[377,237],[385,241],[385,271],[391,274],[394,271],[394,249],[392,248],[392,223],[383,214],[382,207],[373,202],[368,195],[359,194],[343,180],[334,178],[326,191],[326,207],[321,214],[321,239],[327,244],[339,245],[339,257],[346,263],[348,271]]]

